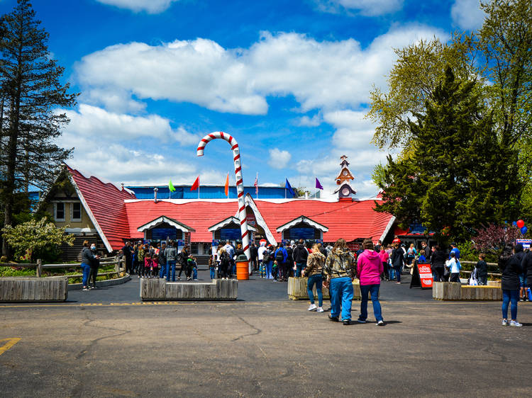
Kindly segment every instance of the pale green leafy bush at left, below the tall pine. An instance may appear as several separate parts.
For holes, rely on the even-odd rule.
[[[66,234],[65,228],[55,227],[53,222],[42,218],[38,221],[23,222],[16,227],[6,225],[2,232],[4,232],[4,240],[15,249],[17,256],[24,256],[28,253],[31,260],[35,260],[40,251],[50,246],[59,246],[62,243],[72,246],[74,235]]]

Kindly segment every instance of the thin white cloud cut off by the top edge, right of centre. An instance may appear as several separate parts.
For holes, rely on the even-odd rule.
[[[338,13],[358,11],[363,16],[381,16],[399,11],[404,0],[316,0],[320,11]]]

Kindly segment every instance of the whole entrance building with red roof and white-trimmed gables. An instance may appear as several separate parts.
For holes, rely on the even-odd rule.
[[[240,240],[236,199],[137,199],[123,186],[67,165],[62,181],[57,185],[62,188],[46,196],[47,208],[56,224],[77,234],[76,246],[84,239],[96,239],[101,249],[111,252],[128,240],[176,239],[181,245],[190,243],[192,254],[201,257],[210,254],[217,241]],[[266,239],[273,245],[297,239],[333,243],[343,238],[355,248],[363,239],[384,241],[393,233],[395,217],[373,210],[380,198],[357,200],[347,192],[340,192],[340,197],[257,200],[247,194],[250,234],[255,241]],[[70,251],[77,254],[77,249]]]

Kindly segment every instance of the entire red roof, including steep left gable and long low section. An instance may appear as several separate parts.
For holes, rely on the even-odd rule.
[[[104,183],[94,176],[87,178],[68,166],[67,169],[80,200],[109,251],[121,249],[123,239],[142,238],[143,232],[138,232],[138,227],[162,215],[194,228],[196,231],[191,232],[191,241],[209,242],[212,240],[209,227],[234,216],[238,211],[237,200],[191,200],[187,203],[135,200],[125,203],[125,200],[135,199],[135,195],[117,188],[112,183]],[[328,232],[323,233],[323,240],[328,242],[338,238],[346,241],[370,238],[377,241],[392,220],[392,215],[373,210],[373,199],[332,203],[321,200],[253,202],[277,241],[282,239],[277,228],[301,215],[327,227]]]

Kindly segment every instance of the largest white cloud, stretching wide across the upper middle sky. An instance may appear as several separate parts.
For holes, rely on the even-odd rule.
[[[224,49],[201,38],[155,46],[131,42],[83,57],[76,71],[82,86],[117,91],[122,103],[125,92],[140,100],[264,115],[267,96],[292,95],[305,112],[357,108],[367,103],[372,84],[384,86],[396,59],[393,47],[434,35],[446,38],[424,25],[394,26],[365,49],[353,39],[319,42],[298,33],[267,32],[248,49]]]

